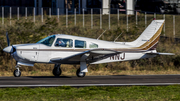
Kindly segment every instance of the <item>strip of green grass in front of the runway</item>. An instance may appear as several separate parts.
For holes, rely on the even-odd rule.
[[[1,88],[1,101],[180,100],[180,86]]]

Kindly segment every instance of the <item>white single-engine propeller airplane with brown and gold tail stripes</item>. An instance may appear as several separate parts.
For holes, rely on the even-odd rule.
[[[3,51],[10,53],[17,61],[14,71],[15,77],[21,76],[21,65],[34,66],[34,63],[55,64],[54,76],[60,76],[61,64],[80,64],[77,77],[84,77],[88,72],[88,65],[119,61],[130,61],[152,58],[157,55],[174,55],[173,53],[159,53],[156,51],[164,20],[153,20],[142,34],[132,42],[104,41],[86,37],[55,34],[37,43],[16,44]]]

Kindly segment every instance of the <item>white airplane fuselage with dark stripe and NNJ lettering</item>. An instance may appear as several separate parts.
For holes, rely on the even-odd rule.
[[[57,38],[65,38],[65,39],[72,39],[73,43],[75,43],[75,40],[82,40],[86,41],[86,48],[75,48],[73,47],[56,47],[55,40]],[[53,44],[51,46],[47,46],[44,44],[34,43],[34,44],[20,44],[20,45],[13,45],[14,48],[16,48],[16,52],[13,53],[13,57],[16,61],[21,63],[28,63],[28,64],[34,64],[34,63],[53,63],[50,60],[52,58],[66,58],[78,53],[81,53],[83,51],[91,50],[94,48],[90,48],[89,45],[91,43],[97,44],[98,48],[108,48],[108,49],[123,49],[123,48],[131,48],[132,46],[127,46],[127,43],[116,43],[116,42],[108,42],[103,40],[97,40],[97,39],[91,39],[91,38],[84,38],[84,37],[77,37],[77,36],[69,36],[69,35],[63,35],[63,34],[57,34]],[[126,45],[127,44],[127,45]],[[99,64],[99,63],[108,63],[108,62],[118,62],[118,61],[128,61],[128,60],[136,60],[136,59],[142,59],[142,58],[151,58],[155,55],[148,55],[145,54],[147,52],[156,52],[156,50],[150,50],[150,51],[142,51],[142,52],[123,52],[111,57],[108,57],[106,59],[102,59],[97,62],[93,62],[90,64]],[[79,60],[74,61],[63,61],[59,64],[79,64]],[[23,64],[22,64],[23,65]]]

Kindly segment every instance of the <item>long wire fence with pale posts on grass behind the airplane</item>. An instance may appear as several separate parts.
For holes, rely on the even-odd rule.
[[[109,13],[110,12],[110,13]],[[0,26],[13,25],[18,20],[28,20],[43,24],[46,19],[56,18],[59,27],[79,26],[91,29],[121,28],[127,32],[134,27],[142,32],[155,19],[165,19],[163,36],[180,38],[180,15],[158,14],[153,12],[133,11],[127,15],[124,9],[60,9],[35,7],[0,7]]]

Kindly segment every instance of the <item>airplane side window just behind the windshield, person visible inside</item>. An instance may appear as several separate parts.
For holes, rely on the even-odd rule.
[[[73,47],[73,40],[72,39],[64,39],[64,38],[57,38],[55,42],[56,47],[66,47],[72,48]]]

